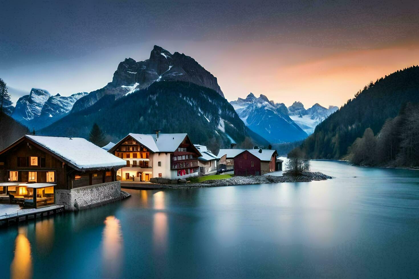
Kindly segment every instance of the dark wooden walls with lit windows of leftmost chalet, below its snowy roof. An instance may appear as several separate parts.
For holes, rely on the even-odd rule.
[[[115,180],[113,168],[78,169],[25,136],[0,151],[0,183],[6,185],[0,187],[0,194],[13,195],[22,200],[28,199],[26,195],[32,194],[35,200],[34,207],[37,196],[53,197],[55,189],[73,189]],[[13,186],[7,186],[8,183]],[[41,184],[45,187],[41,187]],[[31,192],[32,189],[34,192]]]

